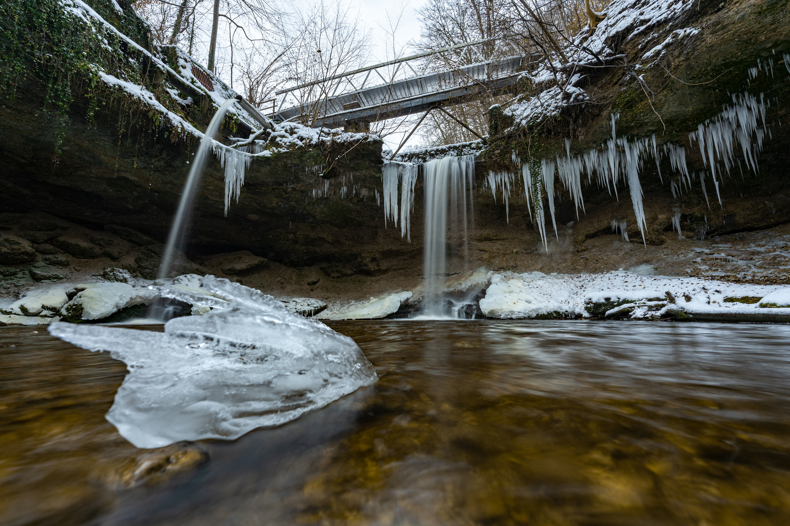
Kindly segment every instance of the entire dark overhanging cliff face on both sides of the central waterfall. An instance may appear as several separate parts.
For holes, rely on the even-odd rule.
[[[107,2],[96,0],[92,6],[98,10],[103,3]],[[737,168],[732,170],[721,181],[720,206],[713,185],[709,184],[707,201],[698,181],[690,190],[684,188],[683,196],[673,196],[668,182],[672,176],[667,175],[672,170],[662,165],[662,184],[656,168],[645,163],[640,178],[646,241],[659,247],[677,240],[672,226],[675,211],[681,213],[686,237],[790,222],[785,168],[790,136],[784,131],[790,123],[786,103],[790,69],[783,56],[790,52],[790,37],[784,26],[783,5],[769,0],[724,6],[696,3],[698,7],[688,9],[672,27],[659,26],[634,38],[629,37],[634,28],[623,28],[609,36],[608,45],[615,53],[638,64],[648,50],[664,41],[665,29],[699,29],[668,43],[658,62],[643,69],[591,69],[580,84],[591,95],[589,103],[569,106],[551,125],[511,128],[491,138],[476,168],[476,229],[470,237],[469,267],[562,270],[555,260],[558,254],[567,259],[581,257],[596,239],[607,240],[612,252],[623,252],[622,244],[612,244],[612,219],[625,220],[630,240],[641,244],[624,186],[618,189],[618,200],[594,181],[585,181],[585,211],[577,215],[566,188],[558,183],[559,239],[546,257],[523,200],[521,183],[511,193],[509,217],[501,197],[495,203],[490,189],[483,188],[487,170],[515,170],[510,161],[512,151],[525,158],[529,152],[535,159],[551,159],[566,154],[566,137],[571,140],[571,155],[600,148],[611,136],[611,115],[619,114],[619,136],[639,138],[655,132],[659,144],[671,142],[686,148],[690,170],[704,170],[698,146],[689,143],[689,132],[732,103],[732,94],[744,91],[763,93],[770,103],[766,114],[770,133],[758,160],[759,173],[744,170],[742,179]],[[144,33],[137,31],[134,38],[143,40]],[[167,62],[164,51],[161,56]],[[128,49],[119,52],[132,54]],[[758,60],[759,73],[751,75]],[[767,60],[772,61],[770,68]],[[642,76],[654,97],[648,100],[631,72]],[[74,93],[91,96],[74,96],[58,118],[42,110],[50,93],[34,75],[18,83],[15,99],[3,99],[0,207],[13,213],[44,211],[95,231],[105,231],[107,225],[132,228],[162,242],[197,140],[179,133],[161,114],[129,95],[117,90],[91,91],[86,78],[75,76],[70,85]],[[167,78],[154,75],[148,82],[151,91],[156,91]],[[186,92],[182,95],[186,97]],[[196,129],[204,129],[213,113],[210,104],[204,100],[191,108],[174,111],[180,111]],[[245,126],[241,121],[226,121],[224,135],[245,136],[249,132]],[[255,159],[246,172],[239,202],[231,203],[227,217],[224,174],[213,159],[192,215],[191,256],[200,259],[220,252],[249,251],[268,260],[258,269],[261,275],[253,284],[283,290],[297,287],[301,293],[327,290],[364,295],[362,289],[367,286],[385,290],[419,282],[422,181],[418,181],[412,216],[416,235],[408,243],[401,238],[400,229],[385,228],[380,206],[381,143],[371,141],[356,147],[343,155],[328,177],[319,177],[316,167],[345,154],[342,145],[335,148],[293,148],[268,159]],[[515,175],[514,180],[520,181],[520,174]],[[24,245],[24,240],[21,243]],[[25,248],[19,250],[24,252]],[[580,265],[577,270],[585,269]]]

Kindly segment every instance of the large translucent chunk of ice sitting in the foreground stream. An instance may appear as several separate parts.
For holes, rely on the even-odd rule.
[[[227,279],[202,289],[230,300],[171,319],[164,333],[54,323],[51,334],[110,351],[129,368],[107,420],[134,446],[232,440],[276,426],[378,380],[351,338]]]

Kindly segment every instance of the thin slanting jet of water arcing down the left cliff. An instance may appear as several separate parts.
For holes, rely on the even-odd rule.
[[[216,114],[214,114],[211,122],[209,122],[209,127],[205,130],[203,139],[200,142],[200,147],[198,148],[198,154],[194,156],[194,160],[192,161],[190,174],[186,177],[186,185],[184,185],[184,191],[181,194],[179,208],[175,212],[173,225],[170,227],[170,235],[167,236],[167,246],[164,248],[162,263],[160,263],[159,275],[157,278],[167,278],[167,274],[170,274],[170,268],[173,265],[175,251],[180,250],[183,252],[186,233],[189,229],[189,217],[192,212],[192,203],[194,203],[195,194],[198,192],[198,185],[203,175],[206,159],[209,157],[209,149],[211,148],[212,140],[216,132],[219,131],[222,119],[228,111],[228,108],[235,102],[236,99],[226,100],[222,106],[220,106],[220,109],[216,110]],[[227,196],[225,200],[228,200]]]

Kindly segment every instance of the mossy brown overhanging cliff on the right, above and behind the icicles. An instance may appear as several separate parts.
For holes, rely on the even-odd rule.
[[[608,12],[613,16],[631,3],[639,4],[613,2]],[[643,11],[635,15],[638,24],[621,24],[616,31],[602,35],[605,47],[621,58],[608,62],[605,68],[591,60],[589,67],[577,69],[583,75],[577,85],[588,99],[506,130],[513,121],[502,125],[502,117],[496,115],[500,133],[492,141],[487,162],[492,167],[508,166],[511,151],[518,151],[525,159],[564,159],[567,152],[574,156],[592,149],[600,151],[611,138],[614,116],[619,137],[638,140],[655,133],[659,149],[664,144],[684,147],[692,174],[690,188],[684,185],[679,195],[677,188],[672,189],[673,184],[680,184],[679,174],[672,170],[668,155],[660,163],[663,177],[652,156],[645,160],[639,178],[645,195],[648,243],[663,242],[677,211],[683,231],[698,238],[790,221],[786,170],[790,31],[784,3],[642,3]],[[681,6],[682,14],[658,24],[639,18],[662,3]],[[734,96],[745,94],[766,101],[765,137],[752,139],[754,144],[758,140],[762,143],[758,170],[749,170],[736,143],[735,157],[740,161],[734,162],[724,177],[718,174],[720,184],[714,188],[709,159],[702,159],[698,141],[691,142],[689,134],[735,106]],[[717,169],[724,171],[722,167]],[[694,179],[694,173],[703,170],[706,191],[699,177]],[[576,244],[611,233],[613,219],[626,220],[630,239],[641,242],[626,185],[619,187],[619,200],[596,185],[594,178],[583,185],[585,214],[574,224]],[[561,195],[570,196],[559,182],[556,186]]]

